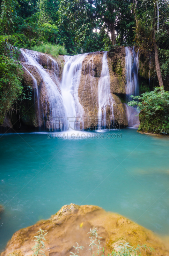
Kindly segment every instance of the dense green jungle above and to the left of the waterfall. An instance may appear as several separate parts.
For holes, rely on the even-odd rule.
[[[169,0],[0,0],[0,14],[1,123],[25,90],[11,45],[54,56],[137,45],[154,52],[160,90],[169,81]]]

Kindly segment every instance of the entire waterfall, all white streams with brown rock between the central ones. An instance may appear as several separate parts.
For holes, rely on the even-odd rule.
[[[128,102],[131,99],[131,94],[138,94],[139,62],[138,52],[135,53],[134,47],[131,49],[125,47],[125,50]],[[65,65],[62,81],[60,81],[58,78],[60,66],[55,59],[40,52],[23,49],[20,51],[25,61],[22,63],[23,68],[33,80],[35,114],[39,127],[45,124],[46,127],[48,125],[48,128],[52,128],[52,131],[56,132],[82,130],[84,127],[85,129],[86,127],[89,128],[89,121],[95,117],[97,121],[92,121],[91,126],[96,123],[99,129],[105,129],[107,125],[111,125],[111,120],[114,120],[114,113],[120,107],[116,104],[110,90],[107,52],[63,56]],[[31,73],[30,68],[36,69],[37,73]],[[41,79],[40,86],[36,78],[37,81]],[[115,110],[114,105],[116,105]],[[138,123],[135,118],[136,109],[133,110],[127,105],[125,109],[129,126],[135,126]],[[115,116],[118,115],[120,114],[116,113]],[[87,118],[91,118],[91,120]]]

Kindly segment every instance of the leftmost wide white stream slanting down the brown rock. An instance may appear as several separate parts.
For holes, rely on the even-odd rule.
[[[65,123],[64,120],[64,105],[63,105],[63,100],[62,100],[62,95],[61,92],[58,88],[59,86],[59,81],[57,80],[57,84],[52,80],[48,72],[37,62],[39,53],[35,51],[30,51],[27,50],[24,52],[23,50],[20,50],[21,53],[23,54],[23,57],[25,59],[25,62],[27,65],[32,65],[37,68],[41,78],[42,78],[42,83],[45,84],[45,89],[48,97],[48,104],[49,104],[49,109],[50,109],[50,118],[56,118],[56,117],[61,117],[63,118],[63,121],[60,123],[62,126],[62,123]],[[54,60],[53,60],[54,61]],[[55,66],[54,66],[55,68]],[[29,72],[30,73],[30,72]],[[31,74],[31,73],[30,73]],[[55,77],[55,80],[57,77]],[[37,89],[38,91],[38,89]],[[43,99],[42,99],[43,102]],[[43,112],[43,110],[42,110]],[[54,127],[55,129],[56,127]],[[57,128],[56,128],[57,129]]]

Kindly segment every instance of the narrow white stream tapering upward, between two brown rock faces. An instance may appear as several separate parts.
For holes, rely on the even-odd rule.
[[[103,127],[106,128],[106,109],[109,106],[110,108],[110,118],[114,119],[113,114],[113,104],[115,101],[110,92],[110,75],[107,63],[107,52],[104,52],[102,58],[102,70],[101,76],[98,83],[98,102],[99,102],[99,111],[98,111],[98,125],[99,129]],[[103,111],[103,114],[102,114]]]

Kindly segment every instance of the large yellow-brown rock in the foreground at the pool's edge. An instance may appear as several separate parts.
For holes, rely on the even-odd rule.
[[[146,244],[153,247],[155,252],[142,252],[142,255],[168,256],[169,251],[162,241],[150,230],[139,226],[133,221],[116,214],[105,212],[102,208],[93,205],[64,205],[49,220],[41,220],[33,226],[23,228],[14,233],[1,256],[31,256],[31,248],[34,246],[33,236],[41,229],[47,230],[45,236],[46,256],[69,256],[75,252],[73,245],[76,242],[85,248],[80,250],[79,255],[90,255],[88,251],[90,228],[97,228],[102,237],[101,246],[104,247],[105,255],[112,252],[120,242],[129,242],[132,246]],[[16,250],[20,250],[19,253]]]

